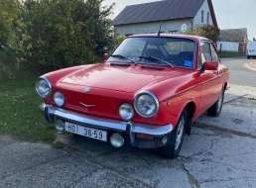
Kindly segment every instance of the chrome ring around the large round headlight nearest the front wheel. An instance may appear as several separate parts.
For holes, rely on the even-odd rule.
[[[140,110],[140,107],[138,106],[138,101],[141,99],[142,96],[147,96],[147,97],[151,97],[152,101],[154,102],[155,108],[153,109],[153,112],[151,114],[145,114]],[[157,115],[158,111],[159,111],[159,100],[158,98],[151,93],[150,91],[143,91],[139,94],[136,95],[135,99],[134,99],[134,108],[135,111],[143,118],[152,118],[154,116]]]

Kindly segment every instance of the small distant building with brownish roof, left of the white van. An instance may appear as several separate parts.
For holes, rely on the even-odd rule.
[[[218,50],[246,52],[248,44],[247,28],[220,30]]]

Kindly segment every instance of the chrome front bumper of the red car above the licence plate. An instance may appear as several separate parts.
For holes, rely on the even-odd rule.
[[[132,138],[134,138],[135,134],[146,134],[153,136],[154,138],[163,138],[166,135],[170,135],[170,133],[174,129],[171,124],[165,126],[154,126],[146,124],[137,124],[131,121],[125,122],[87,116],[72,111],[64,110],[62,108],[57,108],[53,105],[46,105],[45,103],[42,103],[39,106],[39,109],[45,112],[45,117],[49,123],[54,123],[55,117],[57,117],[65,121],[77,123],[81,126],[83,125],[101,130],[125,133],[126,136],[128,136],[131,144],[133,144],[134,142]]]

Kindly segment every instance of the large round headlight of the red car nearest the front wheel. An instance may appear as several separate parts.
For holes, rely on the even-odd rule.
[[[135,97],[134,107],[140,116],[151,118],[158,113],[159,101],[153,93],[144,91]]]

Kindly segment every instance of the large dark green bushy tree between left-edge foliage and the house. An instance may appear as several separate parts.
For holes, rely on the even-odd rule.
[[[113,46],[108,16],[113,5],[102,0],[27,0],[24,16],[30,61],[63,68],[100,61]]]

